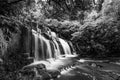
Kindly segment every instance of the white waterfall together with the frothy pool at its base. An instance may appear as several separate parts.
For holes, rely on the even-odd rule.
[[[36,67],[40,67],[40,65],[45,65],[48,71],[53,70],[54,72],[57,70],[60,74],[64,69],[66,70],[68,67],[72,68],[74,58],[69,57],[72,55],[72,48],[67,41],[58,38],[54,32],[50,30],[41,32],[39,29],[37,31],[33,29],[31,42],[31,53],[34,53],[31,57],[34,58],[34,61],[26,67],[33,66],[35,75],[38,75]]]

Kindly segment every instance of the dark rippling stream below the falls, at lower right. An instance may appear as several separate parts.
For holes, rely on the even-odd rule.
[[[120,65],[116,62],[80,59],[76,64],[55,80],[120,80]]]

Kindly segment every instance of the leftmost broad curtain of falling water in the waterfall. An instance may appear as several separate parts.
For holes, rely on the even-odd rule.
[[[33,36],[35,38],[35,61],[52,58],[50,41],[34,30]]]

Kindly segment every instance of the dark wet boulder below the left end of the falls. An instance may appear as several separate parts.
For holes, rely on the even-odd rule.
[[[44,64],[27,65],[19,71],[19,77],[23,80],[50,80],[51,76],[46,71]]]

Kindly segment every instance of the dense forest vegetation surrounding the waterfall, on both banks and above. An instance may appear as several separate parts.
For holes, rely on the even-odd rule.
[[[119,22],[120,0],[0,0],[0,63],[15,71],[29,62],[21,39],[36,24],[71,40],[81,56],[118,57]]]

